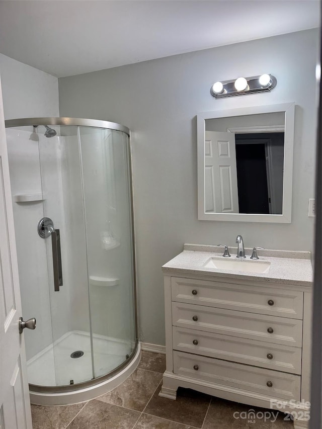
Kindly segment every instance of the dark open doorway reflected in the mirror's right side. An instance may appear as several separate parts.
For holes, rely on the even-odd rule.
[[[239,213],[282,214],[284,133],[235,134]]]

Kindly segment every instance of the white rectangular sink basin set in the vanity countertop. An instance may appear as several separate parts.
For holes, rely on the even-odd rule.
[[[204,268],[213,270],[245,271],[247,273],[268,273],[270,262],[245,261],[244,259],[209,258],[203,265]]]

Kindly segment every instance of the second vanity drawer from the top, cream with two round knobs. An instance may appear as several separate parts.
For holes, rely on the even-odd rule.
[[[172,324],[188,329],[302,347],[302,321],[243,311],[172,303]]]

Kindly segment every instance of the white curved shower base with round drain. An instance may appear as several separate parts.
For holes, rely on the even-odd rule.
[[[121,365],[131,353],[130,341],[121,341],[103,335],[93,335],[95,377],[109,373]],[[83,351],[84,355],[73,359],[71,353]],[[92,399],[121,384],[137,367],[140,347],[128,367],[116,376],[96,386],[66,393],[30,392],[31,402],[39,405],[70,404]],[[38,386],[64,386],[92,380],[92,355],[90,334],[69,331],[27,362],[28,381]]]

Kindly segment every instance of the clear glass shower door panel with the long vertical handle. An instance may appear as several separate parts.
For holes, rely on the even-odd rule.
[[[46,245],[55,384],[91,380],[93,351],[89,313],[85,217],[76,126],[39,128],[43,218],[39,239]]]

